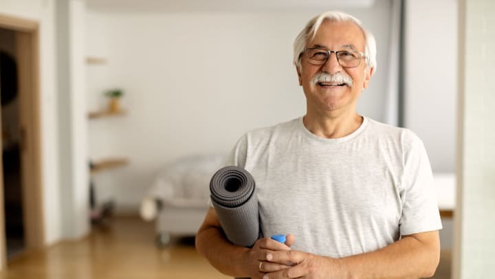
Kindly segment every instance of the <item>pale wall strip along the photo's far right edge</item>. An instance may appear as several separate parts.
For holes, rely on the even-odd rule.
[[[458,208],[452,278],[495,278],[495,2],[459,3]]]

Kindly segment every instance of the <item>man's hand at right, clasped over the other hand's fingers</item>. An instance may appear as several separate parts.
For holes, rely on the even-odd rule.
[[[263,279],[282,278],[344,278],[344,271],[340,260],[323,256],[316,256],[294,250],[284,250],[269,252],[267,260],[270,263],[264,265],[264,270],[268,273]],[[292,266],[285,269],[278,269],[278,265]]]

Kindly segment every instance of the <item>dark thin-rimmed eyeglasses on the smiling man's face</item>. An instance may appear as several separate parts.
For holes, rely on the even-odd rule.
[[[358,67],[361,64],[361,58],[366,58],[364,53],[355,50],[335,51],[318,47],[309,47],[302,54],[309,64],[323,65],[327,63],[332,52],[336,54],[339,65],[346,68]]]

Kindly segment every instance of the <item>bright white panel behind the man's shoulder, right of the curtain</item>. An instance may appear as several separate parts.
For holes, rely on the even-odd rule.
[[[454,172],[457,0],[406,1],[404,126],[426,146],[434,172]]]

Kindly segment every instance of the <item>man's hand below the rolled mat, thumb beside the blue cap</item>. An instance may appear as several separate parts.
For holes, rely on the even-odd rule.
[[[294,236],[287,235],[287,241],[279,243],[270,237],[261,238],[249,250],[246,255],[245,263],[248,267],[248,274],[251,278],[263,278],[267,272],[281,271],[290,266],[281,263],[270,263],[267,261],[267,255],[274,252],[290,251],[290,246],[294,243]],[[268,267],[269,269],[265,269]]]

